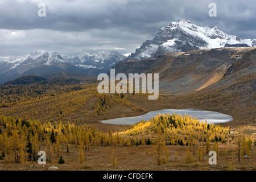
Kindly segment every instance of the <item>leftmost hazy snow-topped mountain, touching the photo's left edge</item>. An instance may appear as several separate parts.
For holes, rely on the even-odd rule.
[[[42,76],[56,72],[86,74],[84,69],[69,64],[57,52],[36,51],[0,62],[0,83],[26,75]]]

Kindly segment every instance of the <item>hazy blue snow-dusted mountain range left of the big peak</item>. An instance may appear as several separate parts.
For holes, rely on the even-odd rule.
[[[53,51],[36,51],[27,55],[0,60],[0,83],[15,78],[36,75],[49,76],[57,72],[72,72],[81,75],[107,73],[118,61],[126,59],[116,51],[110,53],[79,52],[76,55],[60,55]]]

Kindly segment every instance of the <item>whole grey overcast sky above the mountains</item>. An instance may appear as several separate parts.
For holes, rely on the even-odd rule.
[[[38,16],[39,3],[45,17]],[[216,17],[208,15],[209,3],[216,3]],[[255,0],[0,0],[0,57],[38,49],[127,54],[181,18],[256,38],[255,12]]]

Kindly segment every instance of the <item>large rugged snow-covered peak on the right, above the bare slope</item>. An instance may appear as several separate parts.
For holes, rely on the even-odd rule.
[[[154,39],[146,40],[128,59],[142,60],[170,52],[221,47],[256,47],[256,39],[241,39],[225,34],[216,26],[200,27],[181,19],[160,28]]]

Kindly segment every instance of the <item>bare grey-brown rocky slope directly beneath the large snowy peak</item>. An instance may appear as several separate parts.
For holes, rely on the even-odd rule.
[[[229,73],[230,67],[243,59],[243,56],[254,55],[254,49],[217,48],[169,53],[156,59],[122,61],[114,68],[116,74],[159,73],[160,90],[169,94],[186,94],[207,88],[220,81],[225,73]],[[255,68],[253,65],[244,65],[244,67],[245,69]],[[245,74],[250,73],[253,71]]]

